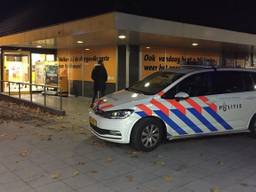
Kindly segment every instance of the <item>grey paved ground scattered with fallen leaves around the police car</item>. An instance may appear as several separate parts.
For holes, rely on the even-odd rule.
[[[0,101],[0,192],[254,192],[247,134],[167,142],[142,153],[88,131],[88,98],[64,117]]]

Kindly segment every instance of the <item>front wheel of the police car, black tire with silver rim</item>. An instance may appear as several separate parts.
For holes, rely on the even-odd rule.
[[[141,119],[132,129],[131,146],[137,150],[149,152],[162,142],[163,136],[164,127],[160,120]]]

